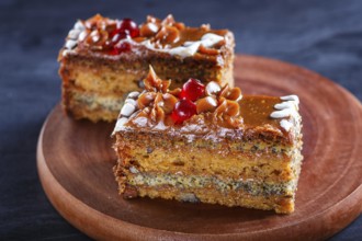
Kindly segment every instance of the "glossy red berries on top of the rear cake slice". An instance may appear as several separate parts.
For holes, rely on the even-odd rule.
[[[116,24],[116,28],[110,33],[109,47],[111,55],[118,55],[123,51],[131,50],[131,44],[127,42],[120,43],[121,39],[129,37],[138,37],[139,28],[132,19],[123,19]]]

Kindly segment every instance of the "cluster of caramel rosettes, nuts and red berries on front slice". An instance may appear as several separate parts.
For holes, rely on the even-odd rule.
[[[137,92],[129,93],[121,112],[121,116],[131,116],[132,125],[181,125],[203,113],[210,113],[204,117],[226,128],[238,128],[242,124],[238,103],[242,95],[238,88],[220,88],[214,81],[205,87],[191,78],[182,90],[178,88],[170,91],[171,81],[157,77],[152,67],[149,67],[144,83],[145,91],[139,95]]]

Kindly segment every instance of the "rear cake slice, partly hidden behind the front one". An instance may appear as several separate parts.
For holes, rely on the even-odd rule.
[[[139,26],[131,19],[95,15],[78,21],[59,53],[63,106],[76,118],[115,120],[123,96],[139,90],[152,65],[172,88],[190,76],[233,85],[234,36],[210,25],[189,27],[148,16]]]

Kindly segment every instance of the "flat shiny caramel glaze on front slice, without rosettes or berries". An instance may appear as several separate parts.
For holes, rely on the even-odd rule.
[[[279,142],[281,145],[294,145],[295,137],[285,131],[278,119],[270,117],[274,105],[282,101],[278,96],[245,95],[239,102],[240,117],[242,122],[236,128],[220,126],[213,118],[213,113],[194,115],[182,125],[166,126],[143,125],[146,119],[139,119],[134,115],[125,124],[125,131],[159,133],[176,138],[205,138],[215,142],[230,140],[262,140],[267,142]],[[142,124],[143,123],[143,124]],[[163,133],[163,134],[162,134]]]

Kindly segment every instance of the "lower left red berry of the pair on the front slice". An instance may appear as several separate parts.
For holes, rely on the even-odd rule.
[[[176,124],[181,124],[196,114],[196,105],[186,99],[180,100],[176,103],[172,111],[172,119]]]

